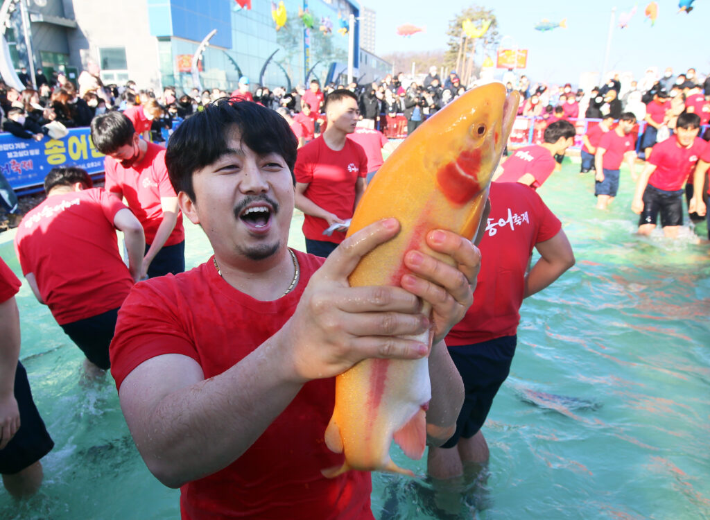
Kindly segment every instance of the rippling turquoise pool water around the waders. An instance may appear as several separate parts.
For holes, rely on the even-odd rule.
[[[477,480],[435,489],[425,478],[373,475],[385,519],[710,518],[710,246],[683,229],[635,235],[633,185],[608,212],[567,159],[540,190],[577,265],[525,301],[518,350],[484,427],[491,462]],[[186,256],[209,256],[189,222]],[[300,218],[291,244],[302,249]],[[20,274],[12,232],[0,256]],[[55,449],[36,497],[0,491],[0,519],[174,519],[178,492],[138,457],[111,379],[80,381],[82,354],[27,284],[18,295],[21,359]],[[419,475],[425,463],[395,461]]]

